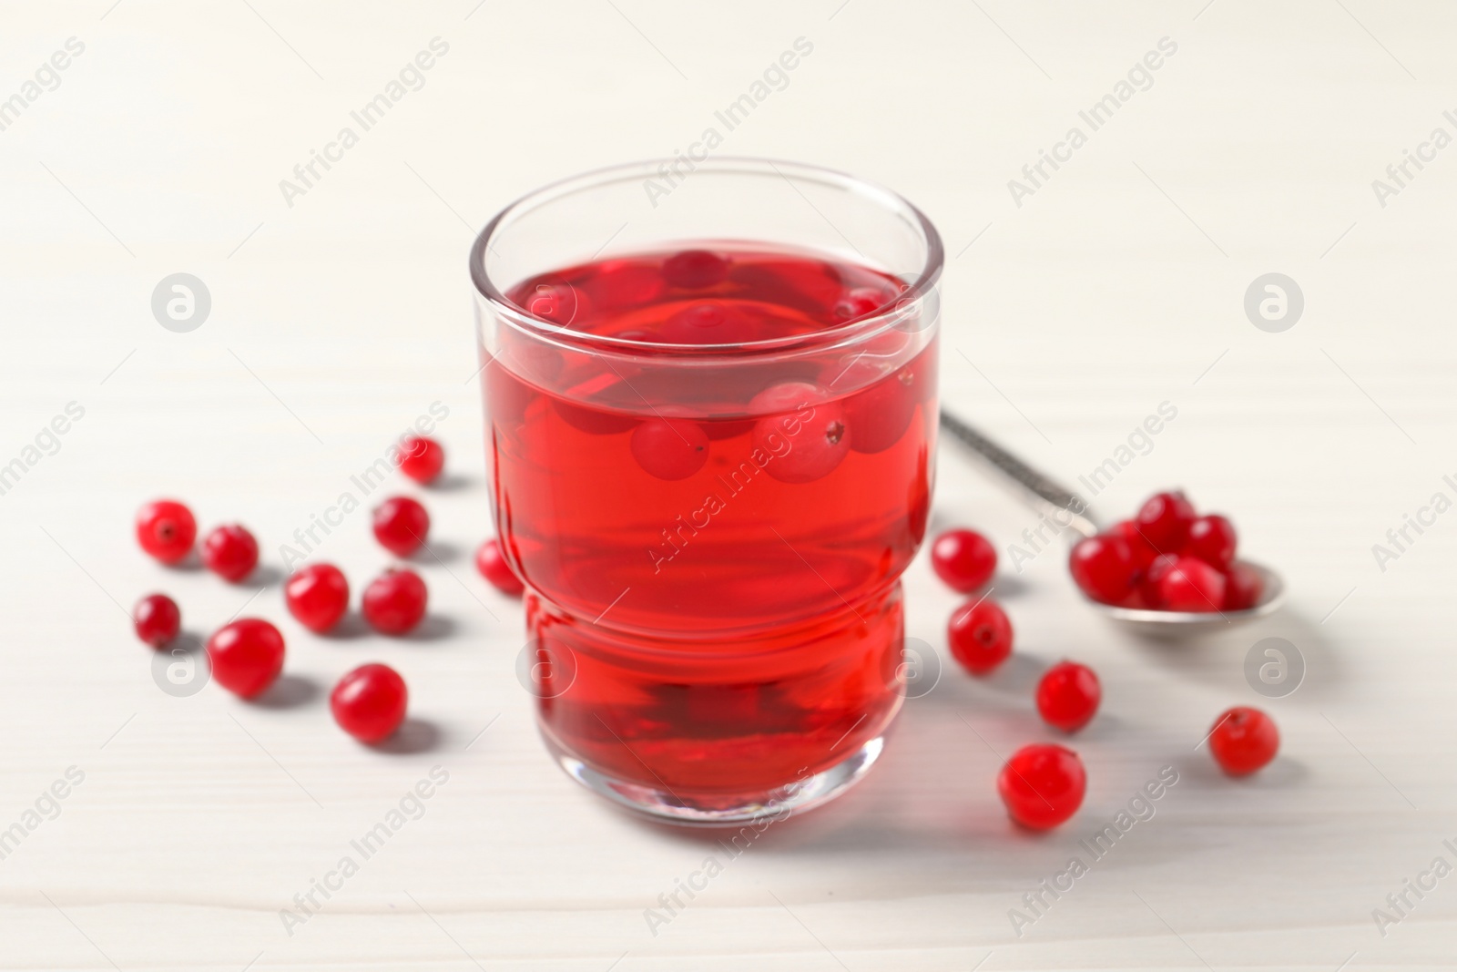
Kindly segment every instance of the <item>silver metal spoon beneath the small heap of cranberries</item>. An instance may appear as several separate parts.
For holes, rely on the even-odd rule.
[[[1029,506],[1046,513],[1055,523],[1069,526],[1077,533],[1077,539],[1100,532],[1101,528],[1093,510],[1072,490],[1042,475],[947,411],[941,412],[941,428],[1001,474],[1005,481],[1018,487]],[[1244,624],[1272,615],[1285,603],[1285,581],[1281,580],[1281,576],[1263,564],[1244,563],[1260,576],[1260,602],[1246,611],[1145,611],[1142,608],[1104,605],[1087,597],[1087,595],[1084,595],[1084,600],[1119,624],[1144,634],[1157,634],[1161,637],[1199,634]]]

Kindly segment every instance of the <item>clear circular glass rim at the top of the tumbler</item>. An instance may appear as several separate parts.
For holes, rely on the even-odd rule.
[[[587,172],[580,172],[564,179],[548,182],[508,203],[504,208],[501,208],[501,211],[491,217],[471,245],[471,281],[475,286],[476,296],[484,299],[491,309],[511,326],[529,334],[530,337],[546,341],[562,341],[564,344],[587,350],[622,353],[643,351],[650,354],[682,353],[692,354],[694,357],[714,356],[715,353],[724,353],[731,348],[736,356],[743,356],[745,350],[782,351],[803,345],[817,347],[820,344],[833,344],[836,341],[844,341],[845,338],[860,340],[873,337],[883,329],[898,326],[900,319],[905,316],[906,305],[915,305],[922,297],[932,293],[941,277],[941,271],[946,265],[946,251],[941,243],[941,235],[937,232],[935,224],[931,223],[925,213],[922,213],[914,203],[906,200],[899,192],[886,188],[879,182],[849,175],[848,172],[804,162],[785,162],[763,156],[711,156],[704,162],[698,162],[689,175],[696,175],[699,172],[739,172],[746,175],[772,173],[784,178],[787,182],[790,182],[790,176],[798,176],[807,181],[839,187],[877,200],[887,211],[899,213],[908,217],[908,220],[919,229],[921,236],[925,240],[925,259],[921,270],[916,273],[915,278],[906,284],[905,291],[898,294],[892,303],[884,305],[871,315],[848,321],[842,325],[826,328],[823,331],[812,331],[809,334],[768,338],[762,341],[745,341],[737,344],[664,344],[660,341],[635,341],[632,338],[592,334],[589,331],[573,331],[570,326],[562,326],[546,321],[545,318],[538,318],[516,306],[506,297],[501,289],[497,287],[495,281],[491,280],[485,270],[485,252],[491,248],[491,242],[495,235],[507,227],[514,217],[538,205],[583,189],[609,185],[613,182],[624,182],[628,179],[656,176],[660,166],[672,165],[672,162],[673,159],[669,157],[657,157],[600,166],[597,169],[589,169]],[[793,187],[794,184],[790,182],[790,185]],[[829,220],[826,220],[826,223],[828,222]],[[830,227],[833,227],[833,223],[830,223]],[[763,242],[772,243],[775,240]],[[854,243],[851,243],[851,248],[854,249]]]

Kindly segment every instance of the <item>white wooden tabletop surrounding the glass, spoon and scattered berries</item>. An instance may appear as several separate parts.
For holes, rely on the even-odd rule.
[[[0,861],[0,966],[1450,968],[1457,877],[1384,937],[1371,912],[1457,864],[1457,513],[1384,571],[1371,546],[1457,498],[1457,149],[1386,207],[1371,181],[1434,127],[1457,134],[1457,12],[1203,3],[6,3],[0,98],[67,38],[86,48],[0,133],[0,463],[67,402],[86,412],[0,495],[0,826],[67,767],[86,780]],[[434,36],[450,50],[425,86],[288,207],[278,181]],[[644,909],[715,845],[606,809],[536,737],[520,608],[469,563],[488,513],[465,255],[548,179],[685,149],[798,36],[813,54],[724,152],[919,204],[949,249],[947,404],[1071,479],[1171,402],[1099,509],[1183,485],[1292,597],[1158,647],[1094,616],[1061,549],[1004,570],[1014,662],[949,669],[858,790],[772,828],[653,936]],[[1179,47],[1154,85],[1016,205],[1007,181],[1163,36]],[[176,271],[213,296],[191,334],[150,312]],[[1271,271],[1305,294],[1284,334],[1241,306]],[[149,563],[136,507],[175,494],[204,528],[242,520],[277,577],[278,544],[434,401],[452,485],[427,495],[427,637],[309,637],[274,583],[248,611],[288,637],[286,698],[160,692],[134,599],[169,590],[205,634],[259,584]],[[937,528],[1005,545],[1034,522],[950,446],[938,485]],[[386,563],[366,517],[319,552],[356,583]],[[911,634],[944,647],[954,597],[924,558],[908,589]],[[1308,666],[1272,702],[1241,672],[1266,635]],[[1104,708],[1072,743],[1081,813],[1032,836],[994,753],[1055,737],[1030,688],[1064,656],[1096,666]],[[373,659],[411,685],[398,752],[328,716],[334,679]],[[1195,746],[1240,702],[1284,748],[1230,781]],[[278,911],[433,765],[450,780],[427,813],[286,934]],[[1180,783],[1157,818],[1014,936],[1008,909],[1164,765]]]

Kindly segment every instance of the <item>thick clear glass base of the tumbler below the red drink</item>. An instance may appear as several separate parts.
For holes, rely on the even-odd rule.
[[[567,775],[597,796],[654,820],[683,826],[724,826],[765,818],[782,819],[791,813],[817,807],[833,800],[870,772],[884,750],[886,740],[884,736],[876,736],[833,767],[772,790],[742,794],[696,794],[613,780],[564,750],[551,737],[551,733],[543,732],[542,739]]]

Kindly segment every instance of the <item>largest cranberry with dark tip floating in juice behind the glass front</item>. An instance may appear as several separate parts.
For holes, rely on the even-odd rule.
[[[749,401],[753,444],[769,462],[765,472],[779,482],[813,482],[828,477],[849,453],[851,431],[839,402],[809,382],[784,382]]]

